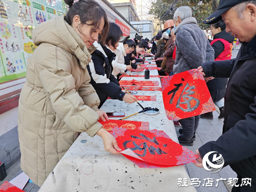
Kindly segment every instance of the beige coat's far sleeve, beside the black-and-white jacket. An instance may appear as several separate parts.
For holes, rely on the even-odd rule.
[[[84,104],[92,108],[94,111],[98,111],[98,106],[100,105],[100,99],[95,92],[95,89],[90,84],[91,78],[86,70],[86,81],[78,89],[80,97],[83,99]]]

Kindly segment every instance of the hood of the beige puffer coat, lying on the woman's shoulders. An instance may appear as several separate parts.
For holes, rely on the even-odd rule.
[[[91,62],[90,54],[96,50],[94,46],[86,48],[82,38],[64,20],[64,16],[56,17],[37,26],[32,34],[32,40],[36,46],[41,43],[50,43],[70,52],[80,60],[83,68]]]

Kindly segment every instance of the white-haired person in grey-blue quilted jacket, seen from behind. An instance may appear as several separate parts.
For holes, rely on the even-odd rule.
[[[179,7],[174,13],[174,34],[176,34],[176,61],[174,74],[197,69],[202,63],[214,61],[214,50],[205,38],[204,32],[192,17],[188,6]],[[193,146],[200,115],[180,120],[182,129],[178,137],[181,145]]]

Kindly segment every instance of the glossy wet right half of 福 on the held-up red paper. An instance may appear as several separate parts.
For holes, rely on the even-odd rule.
[[[189,87],[189,88],[188,88]],[[188,90],[186,90],[186,88],[188,88]],[[180,98],[178,99],[178,102],[176,104],[176,108],[180,108],[182,111],[184,112],[192,112],[194,110],[196,110],[196,108],[198,108],[199,104],[200,104],[200,100],[198,100],[197,98],[194,98],[190,95],[193,95],[195,94],[194,91],[192,91],[193,89],[195,89],[196,87],[195,86],[189,86],[189,84],[187,83],[184,90],[182,91],[182,93],[180,94]],[[183,93],[186,93],[184,95],[182,95]],[[180,102],[181,100],[181,97],[184,99],[184,102]],[[191,107],[191,104],[190,104],[190,101],[192,100],[195,100],[196,101],[196,104],[194,107]],[[185,108],[182,108],[180,106],[180,104],[187,104],[188,108],[185,109]]]

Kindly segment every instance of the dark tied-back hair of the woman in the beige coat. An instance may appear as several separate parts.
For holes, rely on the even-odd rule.
[[[74,16],[78,15],[80,17],[80,25],[86,24],[92,26],[90,29],[90,35],[100,28],[100,23],[102,18],[104,18],[104,28],[102,33],[99,35],[99,40],[105,44],[106,36],[108,35],[108,17],[104,9],[94,0],[79,0],[74,3],[74,0],[64,0],[64,2],[69,6],[69,10],[64,17],[66,22],[72,26]],[[73,4],[74,3],[74,4]],[[78,26],[78,31],[80,31],[80,25]]]

